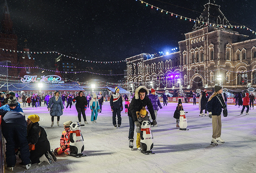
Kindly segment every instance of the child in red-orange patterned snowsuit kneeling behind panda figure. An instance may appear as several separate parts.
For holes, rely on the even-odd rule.
[[[54,154],[55,155],[59,155],[62,154],[64,152],[64,154],[70,154],[70,148],[69,148],[69,136],[70,136],[70,124],[72,123],[72,121],[67,121],[64,122],[64,131],[62,132],[62,137],[60,137],[60,147],[56,148],[54,150]]]

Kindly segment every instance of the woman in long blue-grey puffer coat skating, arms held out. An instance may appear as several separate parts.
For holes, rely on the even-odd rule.
[[[54,117],[57,117],[57,126],[59,126],[59,118],[63,114],[64,106],[62,103],[62,98],[60,97],[59,91],[54,91],[54,96],[49,101],[47,106],[50,115],[52,116],[52,124],[54,125]]]

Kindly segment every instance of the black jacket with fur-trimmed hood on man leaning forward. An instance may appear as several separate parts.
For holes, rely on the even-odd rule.
[[[140,96],[139,96],[140,89],[145,89],[145,91],[147,92],[146,96],[143,100],[140,100]],[[134,97],[133,97],[133,99],[130,102],[130,105],[128,107],[128,116],[132,117],[134,122],[138,121],[136,112],[140,111],[142,109],[142,107],[146,107],[146,106],[149,110],[149,113],[150,113],[152,119],[153,120],[156,119],[155,112],[154,112],[154,109],[153,109],[153,105],[152,105],[149,97],[147,96],[148,94],[149,94],[149,90],[145,86],[139,86],[135,90]]]

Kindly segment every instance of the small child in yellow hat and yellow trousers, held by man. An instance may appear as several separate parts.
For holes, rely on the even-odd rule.
[[[140,130],[141,130],[141,128],[140,128],[140,126],[141,126],[141,122],[147,121],[147,120],[149,121],[149,112],[146,110],[145,107],[142,107],[140,112],[137,111],[136,114],[137,114],[137,119],[138,119],[138,121],[134,122],[135,125],[137,126],[137,128],[136,128],[136,133],[137,133],[136,146],[137,146],[138,150],[141,150],[141,147],[140,147]]]

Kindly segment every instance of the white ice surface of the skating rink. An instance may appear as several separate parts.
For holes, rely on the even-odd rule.
[[[256,109],[249,115],[240,115],[241,107],[228,105],[228,117],[222,115],[222,135],[225,143],[210,145],[212,126],[209,117],[200,117],[198,105],[183,103],[187,113],[189,131],[176,128],[173,113],[177,103],[168,103],[159,110],[158,127],[152,127],[153,151],[144,155],[134,147],[128,147],[129,122],[127,114],[121,112],[122,125],[112,125],[109,102],[104,102],[97,124],[90,122],[90,109],[86,110],[89,124],[81,126],[87,157],[75,158],[58,155],[53,164],[33,164],[31,173],[256,173]],[[51,117],[46,106],[37,110],[22,107],[26,117],[37,114],[40,125],[47,132],[51,148],[59,147],[63,126],[50,127]],[[64,110],[60,124],[68,120],[78,121],[75,106]],[[82,123],[83,124],[83,123]],[[136,139],[136,133],[135,133]],[[135,144],[135,142],[134,142]],[[25,166],[18,159],[14,172],[24,172]],[[6,171],[8,172],[8,171]],[[27,171],[26,171],[27,172]]]

